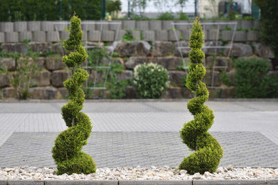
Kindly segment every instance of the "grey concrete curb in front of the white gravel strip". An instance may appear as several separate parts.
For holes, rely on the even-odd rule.
[[[278,179],[258,180],[92,180],[92,181],[22,181],[22,180],[0,180],[0,185],[226,185],[226,184],[278,184]]]

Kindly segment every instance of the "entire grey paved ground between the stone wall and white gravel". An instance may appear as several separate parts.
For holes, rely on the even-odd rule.
[[[177,167],[190,150],[179,130],[193,116],[186,100],[89,102],[92,134],[84,151],[99,167]],[[65,103],[0,103],[0,167],[55,167],[51,148],[67,127]],[[209,130],[220,142],[220,166],[278,168],[278,101],[208,101],[215,113]]]

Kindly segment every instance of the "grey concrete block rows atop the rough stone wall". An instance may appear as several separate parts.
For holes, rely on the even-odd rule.
[[[172,23],[188,23],[190,21],[112,21],[120,22],[117,24],[99,24],[100,21],[83,21],[81,24],[83,30],[83,41],[102,41],[113,42],[121,39],[125,33],[124,30],[135,30],[136,39],[140,40],[139,35],[145,35],[145,41],[160,40],[160,41],[176,41],[174,30],[177,30],[178,37],[183,36],[184,40],[189,39],[191,25],[175,25]],[[213,22],[213,21],[202,21]],[[220,22],[220,21],[214,21]],[[221,21],[223,22],[223,21]],[[229,23],[229,21],[226,21]],[[62,24],[61,24],[62,23]],[[67,24],[65,24],[67,23]],[[92,24],[96,23],[96,24]],[[57,42],[60,39],[67,38],[67,31],[70,26],[69,21],[16,21],[16,22],[1,22],[0,23],[0,43],[4,42],[21,42],[24,39],[31,39],[37,42]],[[205,39],[215,40],[217,27],[215,25],[205,26]],[[219,39],[227,41],[231,40],[232,31],[227,27],[233,29],[232,25],[220,25]],[[238,21],[237,28],[242,28],[246,31],[237,31],[234,37],[235,42],[256,42],[259,41],[258,21]],[[119,30],[119,37],[115,37],[117,30]],[[99,31],[100,33],[94,31]],[[58,33],[55,33],[58,32]],[[95,35],[92,35],[95,34]],[[90,36],[89,36],[90,35]]]

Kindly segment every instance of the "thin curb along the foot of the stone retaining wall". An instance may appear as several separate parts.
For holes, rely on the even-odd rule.
[[[87,103],[125,103],[125,102],[183,102],[188,101],[191,98],[180,98],[180,99],[88,99],[85,100]],[[218,102],[278,102],[278,98],[209,98],[208,101]],[[40,99],[29,99],[29,100],[17,100],[7,99],[0,100],[0,103],[67,103],[67,100],[40,100]]]

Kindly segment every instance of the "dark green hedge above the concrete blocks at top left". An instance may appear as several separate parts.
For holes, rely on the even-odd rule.
[[[60,20],[60,1],[56,0],[1,0],[0,21]],[[76,12],[82,19],[100,19],[101,1],[63,0],[62,19],[69,20]]]

